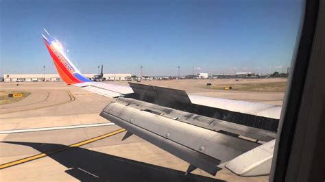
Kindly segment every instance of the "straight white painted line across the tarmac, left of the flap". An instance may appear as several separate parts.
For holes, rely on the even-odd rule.
[[[35,131],[51,131],[58,129],[77,129],[77,128],[88,128],[88,127],[104,127],[115,125],[113,122],[106,123],[97,123],[97,124],[87,124],[87,125],[70,125],[70,126],[62,126],[62,127],[44,127],[44,128],[34,128],[34,129],[14,129],[14,130],[4,130],[0,131],[1,134],[10,134],[10,133],[25,133],[25,132],[35,132]]]

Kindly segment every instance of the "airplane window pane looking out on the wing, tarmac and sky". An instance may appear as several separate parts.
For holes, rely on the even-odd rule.
[[[1,181],[268,181],[304,1],[0,1]]]

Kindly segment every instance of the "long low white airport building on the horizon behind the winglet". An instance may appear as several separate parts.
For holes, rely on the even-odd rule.
[[[83,74],[87,78],[93,78],[95,74]],[[110,81],[120,81],[127,80],[131,77],[130,73],[104,73],[106,80]],[[62,81],[60,75],[58,74],[4,74],[3,79],[6,82],[10,81]]]

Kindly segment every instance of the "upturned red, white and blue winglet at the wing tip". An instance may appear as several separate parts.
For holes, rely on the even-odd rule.
[[[43,36],[43,40],[49,54],[52,57],[53,63],[56,66],[56,70],[58,71],[61,79],[67,83],[68,85],[74,83],[84,83],[91,81],[86,79],[80,71],[72,64],[69,58],[64,54],[62,44],[58,42],[58,40],[53,39],[49,32],[44,29],[47,36]]]

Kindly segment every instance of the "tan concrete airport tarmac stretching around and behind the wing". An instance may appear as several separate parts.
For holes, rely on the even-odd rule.
[[[198,80],[142,83],[182,88],[191,94],[276,105],[282,104],[284,96],[283,92],[208,90],[196,87],[197,84],[204,84],[204,80],[199,80],[200,83],[196,81]],[[109,83],[126,84],[125,81]],[[0,181],[268,179],[237,177],[228,170],[219,171],[215,177],[200,169],[184,176],[189,164],[178,157],[135,135],[121,142],[124,130],[99,116],[101,109],[111,101],[105,96],[66,86],[62,82],[19,83],[19,86],[16,83],[0,83],[0,90],[31,92],[22,101],[0,105]]]

